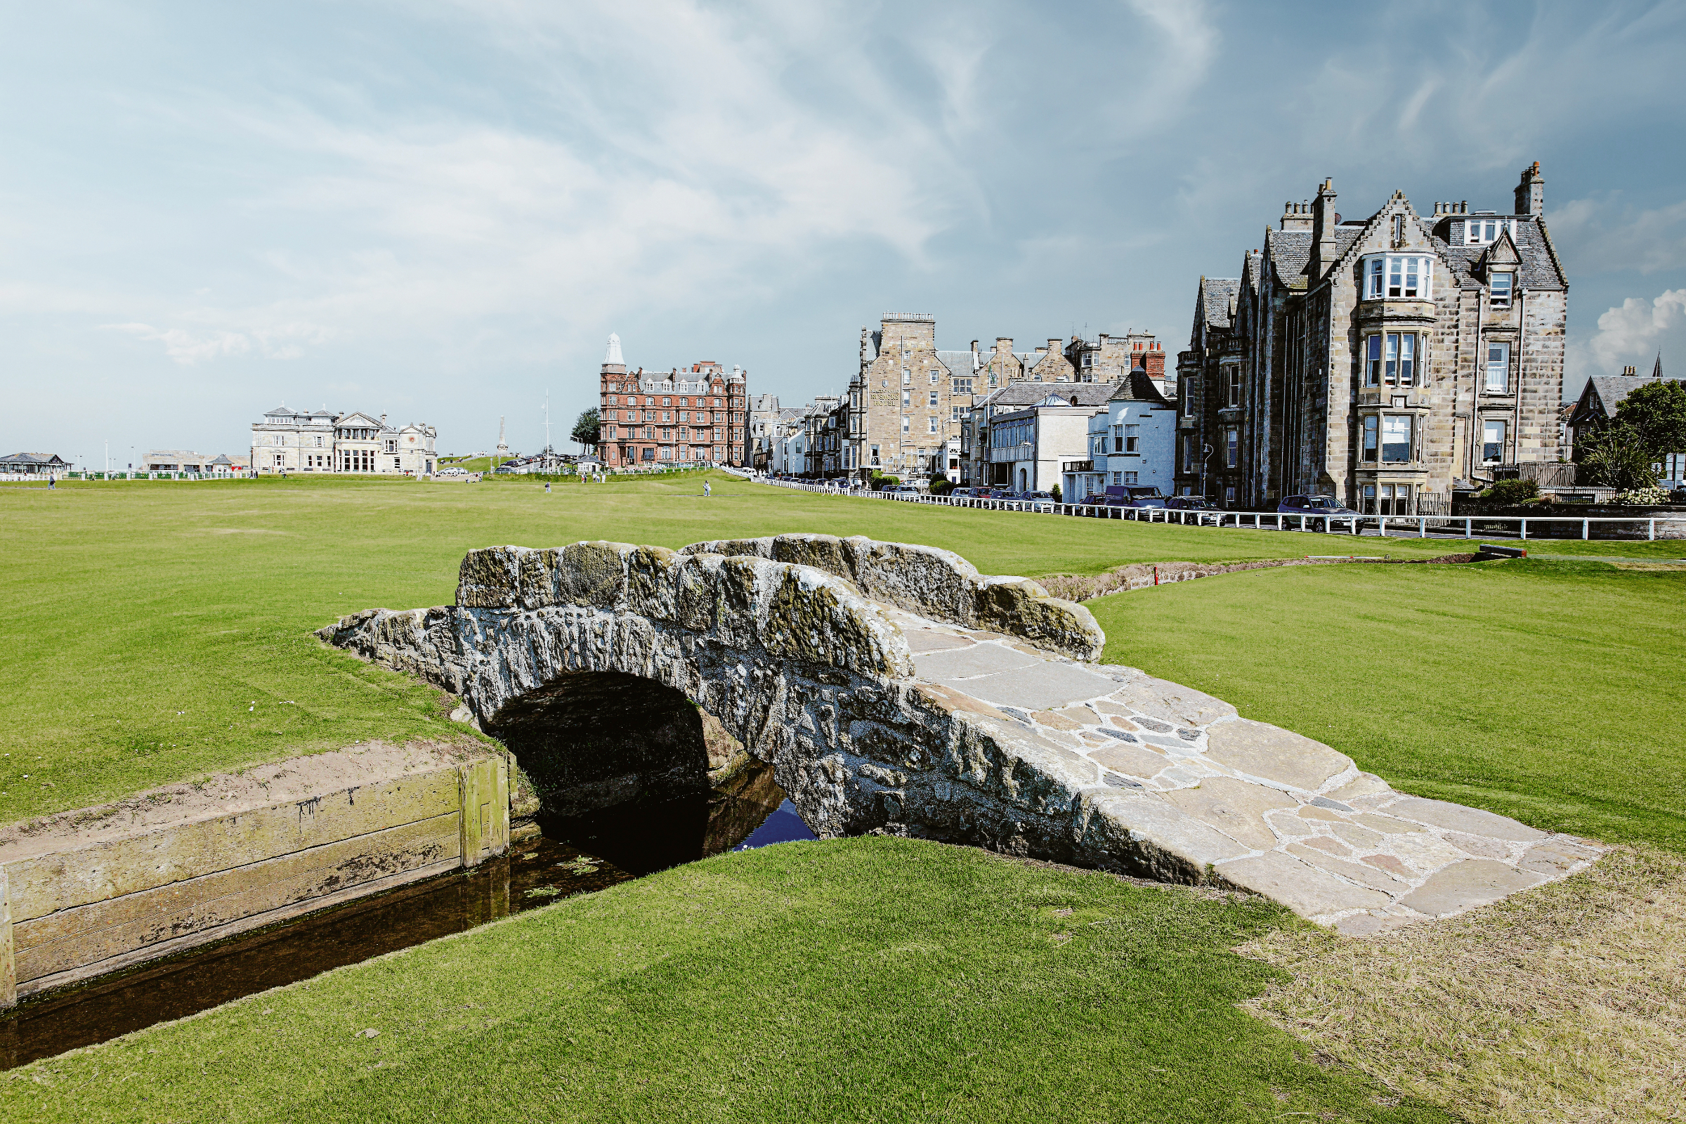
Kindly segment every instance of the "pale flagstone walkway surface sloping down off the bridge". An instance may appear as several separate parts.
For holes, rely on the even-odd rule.
[[[922,681],[1093,763],[1091,834],[1116,832],[1162,854],[1167,870],[1207,870],[1347,935],[1487,905],[1603,853],[1506,816],[1394,792],[1322,741],[1239,718],[1222,699],[1133,667],[889,615]]]

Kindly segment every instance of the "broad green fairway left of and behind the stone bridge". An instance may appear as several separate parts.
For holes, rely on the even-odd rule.
[[[1463,546],[966,511],[814,495],[723,474],[710,480],[708,499],[698,477],[551,492],[513,480],[309,477],[0,487],[0,534],[19,559],[0,615],[0,639],[15,654],[0,696],[0,753],[8,755],[0,757],[0,822],[357,740],[438,736],[447,723],[437,693],[324,650],[310,632],[376,605],[448,603],[457,565],[477,546],[683,546],[824,531],[929,543],[985,573],[1032,576],[1128,561],[1425,558]],[[1576,548],[1637,558],[1681,549],[1553,544]],[[1553,689],[1580,698],[1573,681],[1553,679]]]

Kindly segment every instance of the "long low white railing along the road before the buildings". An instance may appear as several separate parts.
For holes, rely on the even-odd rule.
[[[787,487],[823,495],[855,495],[860,499],[900,500],[905,504],[934,504],[942,507],[976,507],[981,511],[1018,511],[1040,516],[1079,516],[1087,519],[1135,519],[1136,522],[1175,522],[1197,527],[1246,527],[1256,531],[1318,531],[1337,534],[1362,534],[1366,529],[1377,531],[1383,538],[1465,538],[1479,536],[1516,536],[1528,538],[1529,524],[1534,526],[1534,538],[1539,538],[1539,524],[1578,527],[1580,538],[1592,538],[1593,524],[1629,524],[1630,534],[1600,538],[1657,538],[1657,524],[1664,531],[1676,534],[1686,531],[1686,514],[1683,516],[1312,516],[1281,511],[1199,511],[1182,507],[1113,507],[1098,504],[1066,504],[1047,499],[985,499],[978,495],[931,495],[929,492],[875,492],[848,484],[808,484],[801,480],[774,480],[767,477],[750,477],[762,484]],[[1669,527],[1669,524],[1676,524]],[[1664,538],[1676,538],[1666,534]],[[1549,538],[1563,538],[1553,534]]]

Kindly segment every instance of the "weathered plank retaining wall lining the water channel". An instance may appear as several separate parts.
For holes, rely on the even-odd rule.
[[[509,846],[502,755],[0,863],[0,1008]]]

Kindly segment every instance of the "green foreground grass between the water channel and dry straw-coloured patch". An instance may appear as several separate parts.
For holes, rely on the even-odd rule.
[[[1447,1121],[1236,1004],[1298,925],[981,851],[722,854],[0,1080],[27,1121]],[[379,1031],[368,1036],[368,1031]]]

